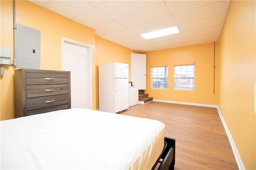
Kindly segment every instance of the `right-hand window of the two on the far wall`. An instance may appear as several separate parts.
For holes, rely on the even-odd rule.
[[[174,66],[174,89],[194,90],[194,65]]]

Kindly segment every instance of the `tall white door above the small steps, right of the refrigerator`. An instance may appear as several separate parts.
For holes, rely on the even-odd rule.
[[[146,89],[146,54],[131,54],[131,81],[139,90]]]

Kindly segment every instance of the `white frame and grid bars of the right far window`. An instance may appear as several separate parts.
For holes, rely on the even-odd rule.
[[[186,66],[186,71],[182,71],[182,66],[183,67]],[[193,66],[193,70],[188,71],[188,66]],[[180,74],[177,74],[176,67],[181,67],[180,72],[179,72]],[[174,75],[173,75],[173,77],[174,77],[174,90],[194,91],[195,90],[195,65],[194,64],[174,65],[173,68],[174,68]],[[192,72],[192,74],[188,74],[189,72]],[[184,74],[184,73],[186,73],[186,74]],[[182,75],[182,77],[176,77],[176,75]],[[188,82],[189,79],[192,79],[192,81]],[[177,82],[182,82],[182,83],[188,82],[188,83],[190,83],[189,85],[192,86],[192,87],[191,88],[188,88],[188,87],[184,87],[184,88],[178,87],[177,88],[176,87]]]

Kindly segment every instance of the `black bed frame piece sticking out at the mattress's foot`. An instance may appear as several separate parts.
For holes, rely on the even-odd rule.
[[[160,163],[157,170],[174,170],[175,164],[175,139],[164,137],[164,149],[151,170],[154,170]]]

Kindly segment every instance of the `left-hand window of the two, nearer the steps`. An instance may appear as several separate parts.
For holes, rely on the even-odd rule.
[[[152,89],[167,89],[168,87],[168,67],[152,67]]]

